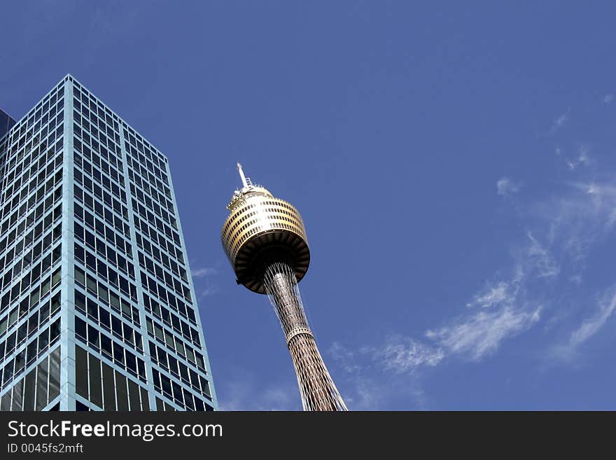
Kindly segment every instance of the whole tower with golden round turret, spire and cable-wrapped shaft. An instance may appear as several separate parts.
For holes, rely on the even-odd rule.
[[[300,213],[290,203],[253,185],[237,164],[241,189],[227,206],[222,242],[237,284],[266,294],[280,321],[304,410],[347,410],[308,326],[297,284],[310,251]]]

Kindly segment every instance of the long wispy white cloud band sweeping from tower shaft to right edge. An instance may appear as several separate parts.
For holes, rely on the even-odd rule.
[[[543,348],[535,357],[547,357],[550,363],[575,362],[582,345],[614,316],[616,286],[577,323],[563,311],[559,291],[563,285],[573,292],[583,288],[585,260],[616,229],[616,177],[561,187],[558,194],[516,209],[524,233],[511,246],[510,265],[461,302],[457,316],[416,337],[397,334],[379,344],[331,347],[329,356],[342,372],[349,407],[372,410],[393,401],[410,408],[429,407],[422,384],[426,372],[451,360],[480,363],[542,323]],[[582,308],[587,306],[574,305],[573,311]],[[381,391],[375,392],[375,387]]]

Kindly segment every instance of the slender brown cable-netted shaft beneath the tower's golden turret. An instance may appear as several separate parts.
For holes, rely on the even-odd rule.
[[[295,271],[286,261],[265,266],[263,285],[280,320],[304,410],[347,410],[308,326]]]

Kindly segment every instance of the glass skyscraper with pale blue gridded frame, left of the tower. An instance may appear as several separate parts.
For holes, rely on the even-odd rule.
[[[69,75],[0,180],[0,409],[216,409],[167,158]]]

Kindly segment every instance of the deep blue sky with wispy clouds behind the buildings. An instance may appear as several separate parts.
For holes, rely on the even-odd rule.
[[[71,73],[167,154],[228,410],[300,410],[225,204],[295,204],[351,410],[616,409],[610,2],[20,1],[0,106]]]

